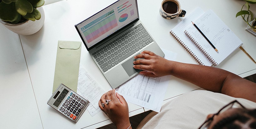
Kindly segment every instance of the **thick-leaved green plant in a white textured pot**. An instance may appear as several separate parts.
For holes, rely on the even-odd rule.
[[[29,35],[44,23],[44,0],[0,0],[0,22],[11,31]]]

